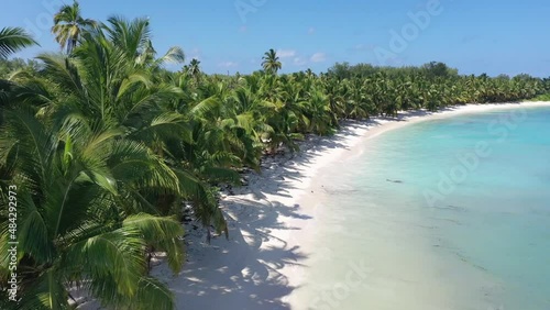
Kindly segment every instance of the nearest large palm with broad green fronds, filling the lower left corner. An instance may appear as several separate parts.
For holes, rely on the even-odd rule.
[[[63,124],[50,126],[24,104],[7,113],[0,200],[8,203],[9,185],[16,186],[19,225],[13,239],[0,213],[0,277],[8,241],[16,241],[18,309],[70,309],[74,286],[114,307],[174,309],[169,290],[147,275],[145,250],[165,251],[179,270],[183,229],[170,218],[132,214],[128,197],[132,188],[143,195],[174,184],[169,169],[143,145],[87,120],[54,118]]]

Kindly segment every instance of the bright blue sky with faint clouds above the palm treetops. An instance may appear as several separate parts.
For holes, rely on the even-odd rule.
[[[0,27],[23,26],[59,51],[52,12],[70,0],[2,0]],[[337,62],[421,65],[461,74],[550,76],[548,0],[80,0],[85,18],[150,16],[160,53],[178,45],[207,73],[250,73],[268,48],[283,71],[327,70]]]

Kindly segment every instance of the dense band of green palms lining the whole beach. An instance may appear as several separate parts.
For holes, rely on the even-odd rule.
[[[166,252],[182,267],[183,201],[209,236],[227,234],[217,187],[238,184],[243,167],[258,169],[263,154],[296,151],[305,134],[331,134],[343,119],[550,89],[525,75],[461,76],[441,63],[277,75],[274,49],[252,75],[206,75],[197,59],[172,73],[163,65],[184,63],[184,53],[157,57],[147,20],[97,23],[77,2],[55,19],[66,54],[0,62],[0,199],[7,206],[16,186],[19,309],[68,309],[70,286],[120,309],[170,309],[170,291],[147,274],[148,253]],[[16,34],[0,36],[2,58],[33,43]],[[0,220],[6,284],[6,209]]]

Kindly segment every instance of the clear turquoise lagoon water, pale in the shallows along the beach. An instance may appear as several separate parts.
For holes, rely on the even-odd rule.
[[[550,309],[550,109],[410,124],[327,169],[304,308]]]

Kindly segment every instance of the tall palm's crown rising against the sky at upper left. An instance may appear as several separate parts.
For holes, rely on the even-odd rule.
[[[55,41],[59,43],[62,49],[66,48],[67,54],[70,54],[82,32],[96,25],[96,21],[84,19],[80,15],[80,5],[75,0],[72,5],[63,5],[54,15],[52,33],[55,35]]]

